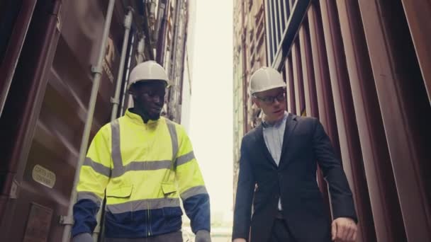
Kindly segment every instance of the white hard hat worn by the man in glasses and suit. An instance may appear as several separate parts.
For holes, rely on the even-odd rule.
[[[250,94],[267,91],[274,88],[285,88],[283,76],[274,68],[262,67],[252,74],[250,79]]]

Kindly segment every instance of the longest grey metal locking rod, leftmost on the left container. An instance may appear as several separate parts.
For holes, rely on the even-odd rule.
[[[82,142],[81,142],[81,146],[79,147],[79,160],[77,163],[77,170],[75,171],[75,175],[74,175],[72,192],[69,200],[69,207],[67,209],[67,216],[60,217],[60,224],[65,224],[65,230],[63,231],[63,236],[62,236],[62,242],[69,242],[70,231],[72,231],[73,206],[75,201],[77,200],[76,189],[77,189],[77,183],[79,180],[79,172],[81,170],[82,164],[84,163],[84,159],[86,156],[86,149],[89,143],[91,125],[93,123],[94,108],[96,107],[97,93],[99,91],[99,86],[100,86],[100,81],[102,76],[103,57],[105,57],[105,54],[106,54],[106,42],[108,40],[109,28],[111,27],[114,4],[115,4],[115,0],[109,0],[108,11],[106,12],[106,22],[105,22],[105,25],[103,26],[103,35],[102,35],[102,41],[100,45],[99,57],[97,59],[97,65],[96,67],[91,68],[91,71],[93,71],[94,73],[93,86],[91,88],[91,96],[89,101],[88,113],[86,115],[84,134],[82,135]]]

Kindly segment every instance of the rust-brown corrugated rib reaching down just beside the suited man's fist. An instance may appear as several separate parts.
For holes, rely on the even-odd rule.
[[[354,113],[352,90],[348,81],[349,75],[347,74],[345,50],[340,33],[340,21],[344,21],[344,19],[340,20],[338,18],[335,1],[320,1],[320,9],[325,35],[325,45],[328,52],[330,81],[334,98],[333,103],[335,106],[338,136],[340,138],[342,166],[346,173],[347,180],[349,180],[357,211],[362,212],[362,214],[360,214],[362,216],[364,214],[364,204],[368,204],[368,206],[365,207],[365,213],[369,215],[371,211],[369,210],[369,197],[366,195],[366,193],[368,193],[366,188],[366,175],[364,173],[364,163],[361,145],[359,143],[359,132],[355,118],[356,114]],[[365,219],[366,217],[367,216],[364,216]],[[362,221],[362,217],[360,220]],[[359,224],[358,241],[369,241],[369,236],[363,233],[364,229],[369,230],[369,228],[366,227],[370,225],[371,224],[367,223],[367,221],[362,221]],[[373,230],[372,227],[371,230]]]

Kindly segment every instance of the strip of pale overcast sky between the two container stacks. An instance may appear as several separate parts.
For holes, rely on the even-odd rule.
[[[233,206],[233,1],[196,1],[190,138],[213,214]]]

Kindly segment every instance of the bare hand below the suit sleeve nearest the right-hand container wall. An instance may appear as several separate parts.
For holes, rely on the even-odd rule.
[[[357,225],[350,218],[338,218],[332,221],[332,241],[354,242],[356,241]]]

